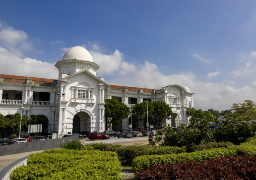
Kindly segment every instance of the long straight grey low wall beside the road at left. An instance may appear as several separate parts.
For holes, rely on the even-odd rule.
[[[58,139],[48,139],[48,140],[39,140],[32,141],[20,144],[11,144],[4,145],[0,147],[0,156],[2,155],[10,155],[10,154],[19,154],[23,152],[30,152],[36,150],[46,150],[46,149],[54,149],[60,148],[60,144],[69,141],[70,139],[79,139],[78,136],[72,137],[64,137]]]

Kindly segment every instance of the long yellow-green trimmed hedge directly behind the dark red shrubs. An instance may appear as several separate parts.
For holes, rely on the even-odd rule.
[[[227,148],[216,148],[209,150],[202,150],[196,152],[185,152],[180,154],[166,154],[166,155],[142,155],[136,157],[132,162],[132,167],[135,172],[142,169],[149,168],[154,164],[169,164],[171,162],[186,162],[210,160],[220,156],[235,156],[237,147],[231,145]]]

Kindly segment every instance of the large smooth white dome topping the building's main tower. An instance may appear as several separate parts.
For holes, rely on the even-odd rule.
[[[93,62],[91,54],[83,47],[75,46],[70,48],[62,58],[63,60],[79,59]]]

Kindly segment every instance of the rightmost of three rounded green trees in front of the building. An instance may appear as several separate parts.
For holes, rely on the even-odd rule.
[[[171,107],[166,104],[164,101],[154,101],[154,112],[153,115],[153,123],[160,127],[160,124],[164,121],[164,119],[170,119],[173,114]]]

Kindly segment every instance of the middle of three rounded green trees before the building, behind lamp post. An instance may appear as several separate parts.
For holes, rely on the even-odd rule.
[[[154,112],[153,103],[148,101],[149,122],[150,122],[150,118],[151,118],[151,115],[153,114],[153,112]],[[146,127],[146,123],[147,123],[147,101],[135,104],[133,106],[133,118],[134,118],[134,115],[135,115],[135,118],[138,121],[142,121],[142,124],[144,125],[144,127]]]

